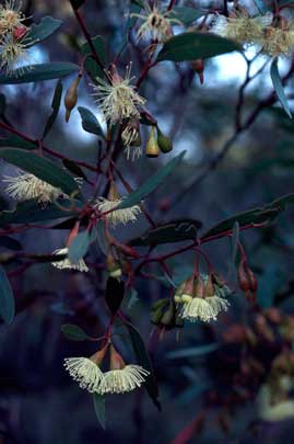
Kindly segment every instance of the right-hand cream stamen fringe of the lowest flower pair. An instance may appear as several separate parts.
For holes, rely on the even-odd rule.
[[[121,369],[111,369],[104,373],[103,379],[97,388],[97,392],[104,394],[124,394],[140,387],[149,372],[140,365],[126,365]]]

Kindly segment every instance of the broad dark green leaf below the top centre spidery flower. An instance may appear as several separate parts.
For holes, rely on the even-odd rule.
[[[183,33],[169,38],[160,52],[156,61],[185,61],[220,56],[240,50],[240,46],[226,38],[209,33]]]

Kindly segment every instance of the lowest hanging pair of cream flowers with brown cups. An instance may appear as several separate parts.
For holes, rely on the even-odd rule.
[[[90,392],[124,394],[140,387],[149,372],[140,365],[126,365],[121,355],[110,345],[110,369],[102,372],[99,368],[108,345],[99,350],[90,358],[69,357],[64,360],[64,367],[81,388]]]

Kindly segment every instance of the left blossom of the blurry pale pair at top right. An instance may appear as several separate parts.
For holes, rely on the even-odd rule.
[[[211,32],[242,44],[259,44],[271,22],[271,13],[250,18],[246,12],[236,11],[235,16],[217,15]]]

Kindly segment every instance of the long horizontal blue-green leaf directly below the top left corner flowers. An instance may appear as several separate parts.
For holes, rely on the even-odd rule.
[[[10,76],[0,75],[0,84],[31,83],[61,79],[79,71],[79,69],[78,65],[64,61],[31,65],[26,70],[23,70],[23,68],[15,69]]]

